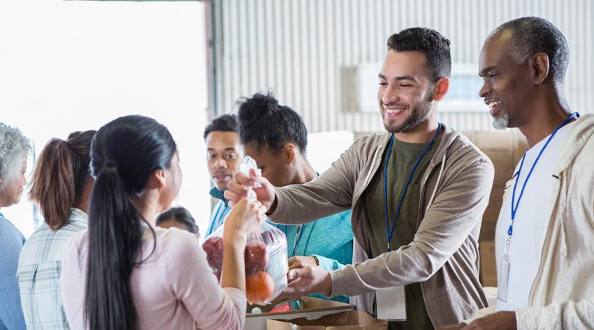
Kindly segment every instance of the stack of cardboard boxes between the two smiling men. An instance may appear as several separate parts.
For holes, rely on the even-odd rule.
[[[481,282],[484,287],[497,286],[495,270],[495,225],[503,201],[503,189],[512,178],[516,164],[527,148],[526,138],[517,129],[506,131],[465,132],[472,143],[485,153],[495,166],[495,180],[489,203],[483,215],[479,252],[481,254]]]

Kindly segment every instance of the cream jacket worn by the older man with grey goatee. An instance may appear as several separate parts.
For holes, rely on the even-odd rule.
[[[518,329],[594,329],[594,115],[572,126],[553,173],[558,180],[530,307],[516,310]]]

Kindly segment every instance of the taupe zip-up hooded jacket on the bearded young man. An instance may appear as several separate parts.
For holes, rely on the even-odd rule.
[[[369,221],[361,194],[382,163],[390,134],[359,138],[328,171],[304,185],[275,189],[273,221],[303,224],[352,209],[354,263],[331,272],[332,296],[352,296],[375,314],[375,291],[421,282],[435,327],[454,324],[486,306],[479,283],[481,217],[493,185],[493,164],[468,138],[446,128],[423,173],[414,240],[369,259]]]

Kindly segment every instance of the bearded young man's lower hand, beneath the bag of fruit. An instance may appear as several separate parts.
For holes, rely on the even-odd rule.
[[[306,266],[289,271],[289,286],[284,289],[281,296],[294,299],[305,294],[326,294],[332,292],[330,272],[324,271],[320,266]]]

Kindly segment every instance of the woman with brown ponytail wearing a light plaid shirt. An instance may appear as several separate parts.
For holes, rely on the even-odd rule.
[[[53,138],[37,160],[29,197],[41,209],[45,224],[24,243],[17,270],[27,329],[68,329],[60,299],[61,259],[68,241],[87,228],[94,134],[77,131],[66,141]]]

